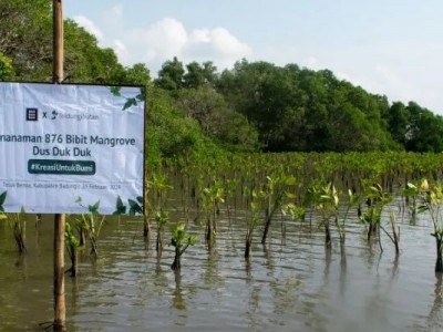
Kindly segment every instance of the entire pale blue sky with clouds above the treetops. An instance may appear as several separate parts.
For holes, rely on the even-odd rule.
[[[174,56],[218,72],[295,63],[443,115],[442,0],[64,0],[63,11],[154,77]]]

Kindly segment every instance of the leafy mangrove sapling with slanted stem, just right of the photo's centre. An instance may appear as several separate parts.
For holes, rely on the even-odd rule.
[[[293,176],[280,174],[274,178],[267,176],[266,179],[267,183],[265,184],[264,189],[260,191],[260,196],[264,197],[266,201],[265,228],[261,236],[261,245],[266,243],[266,238],[268,236],[274,215],[278,209],[281,209],[285,198],[293,199],[296,197],[293,194],[287,190],[288,186],[295,185],[296,183],[296,178]]]

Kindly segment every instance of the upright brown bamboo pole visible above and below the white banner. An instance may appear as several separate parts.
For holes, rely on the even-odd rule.
[[[63,81],[63,3],[53,0],[53,83]],[[65,216],[54,216],[54,322],[55,331],[65,331],[65,294],[64,294],[64,226]]]

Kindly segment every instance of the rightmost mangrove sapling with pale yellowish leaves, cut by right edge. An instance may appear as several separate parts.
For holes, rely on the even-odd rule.
[[[442,184],[434,184],[432,187],[424,179],[420,186],[422,195],[422,205],[419,212],[427,211],[434,225],[434,232],[431,234],[435,238],[436,261],[435,272],[443,272],[443,218],[441,207],[443,204]]]

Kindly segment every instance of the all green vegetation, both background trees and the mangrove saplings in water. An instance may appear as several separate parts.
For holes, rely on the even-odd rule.
[[[435,154],[443,151],[442,116],[415,102],[391,103],[387,96],[337,79],[329,70],[244,59],[218,72],[210,61],[184,64],[174,58],[153,79],[143,63],[122,65],[112,49],[100,48],[95,37],[70,19],[64,22],[64,83],[138,84],[147,91],[146,162],[151,172],[144,236],[150,238],[154,220],[157,251],[163,248],[168,221],[164,196],[169,178],[179,184],[186,214],[196,210],[194,220],[206,219],[209,250],[219,205],[226,203],[230,218],[237,197],[241,198],[250,215],[245,257],[260,218],[265,219],[265,245],[277,214],[302,221],[307,214],[319,217],[328,247],[331,226],[336,226],[343,252],[346,219],[356,206],[368,241],[377,228],[380,241],[382,229],[398,253],[396,217],[390,215],[390,234],[381,216],[391,194],[401,193],[405,203],[401,210],[408,207],[411,220],[416,212],[430,212],[437,249],[435,270],[443,270],[443,155]],[[0,81],[52,79],[50,1],[0,0]],[[339,199],[344,201],[340,206]],[[124,206],[120,204],[117,211],[119,207]],[[96,256],[99,205],[92,208],[90,219],[83,216],[65,230],[73,266],[84,242],[73,236],[71,225],[89,229]],[[344,216],[340,215],[343,209]],[[16,241],[23,245],[19,250],[25,250],[19,216],[14,225]],[[185,224],[178,224],[172,231],[173,269],[179,269],[181,256],[194,242]],[[71,272],[75,274],[74,269]]]

